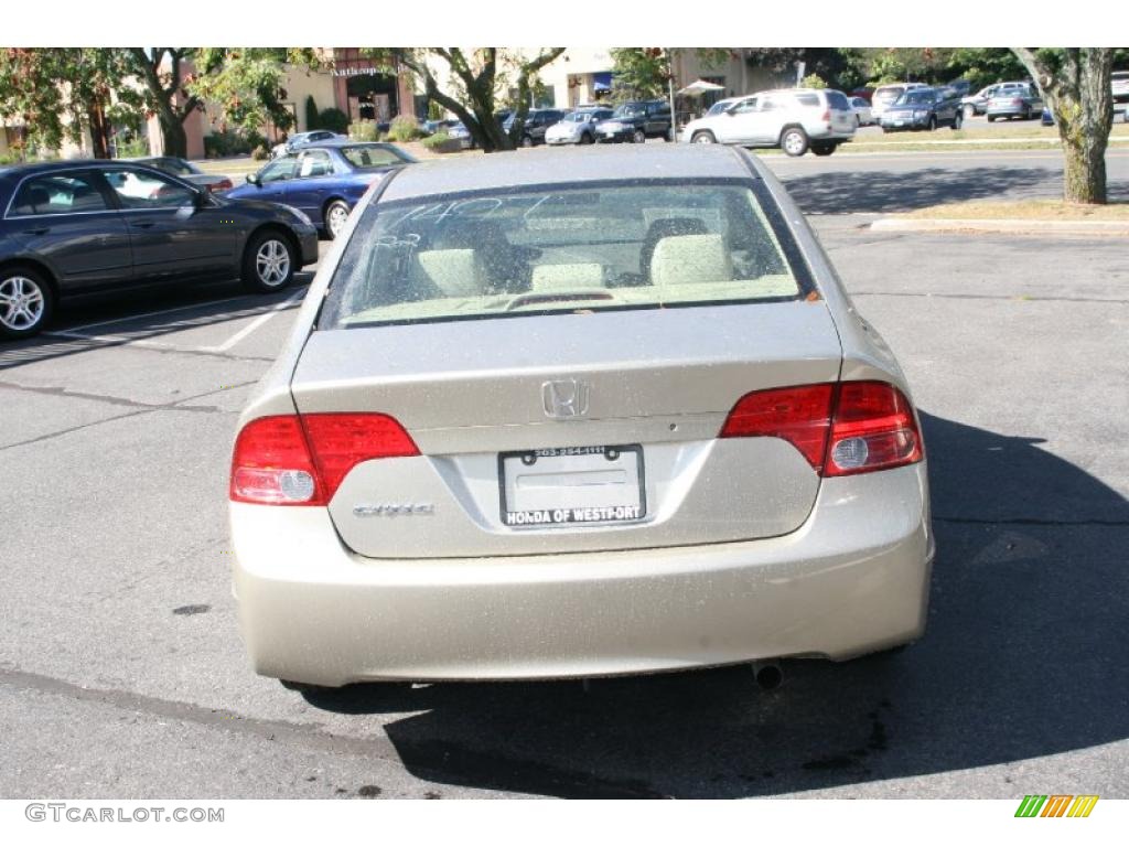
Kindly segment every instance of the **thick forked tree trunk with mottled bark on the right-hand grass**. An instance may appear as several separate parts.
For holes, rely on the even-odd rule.
[[[1039,84],[1062,140],[1064,195],[1104,203],[1105,148],[1113,128],[1111,47],[1012,47]]]

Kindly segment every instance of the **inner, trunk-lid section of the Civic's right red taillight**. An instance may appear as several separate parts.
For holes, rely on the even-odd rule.
[[[745,394],[729,412],[720,437],[784,438],[804,454],[817,473],[828,446],[832,388],[828,383]]]

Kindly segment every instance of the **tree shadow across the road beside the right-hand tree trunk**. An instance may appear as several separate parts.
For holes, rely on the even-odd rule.
[[[961,171],[829,171],[785,181],[806,215],[905,212],[966,200],[1026,200],[1059,197],[1058,167],[973,167]]]

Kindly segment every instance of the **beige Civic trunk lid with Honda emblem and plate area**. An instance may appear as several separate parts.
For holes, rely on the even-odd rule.
[[[364,462],[330,503],[376,558],[616,550],[764,538],[820,478],[779,438],[718,439],[744,394],[834,382],[822,300],[315,332],[303,414],[382,412],[420,455]]]

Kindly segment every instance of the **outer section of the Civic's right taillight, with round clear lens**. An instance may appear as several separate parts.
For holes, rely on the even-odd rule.
[[[840,383],[824,477],[846,477],[921,461],[913,407],[889,383]]]

